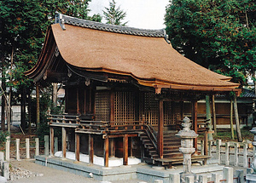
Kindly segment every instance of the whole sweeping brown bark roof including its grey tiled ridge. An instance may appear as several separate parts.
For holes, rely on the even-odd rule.
[[[49,27],[44,47],[54,38],[69,66],[131,76],[154,88],[231,91],[239,86],[229,82],[231,77],[209,71],[179,54],[166,43],[163,30],[105,25],[65,15],[60,19],[60,24]],[[41,55],[38,65],[26,74],[36,77],[43,71],[43,62],[47,61]],[[42,68],[36,69],[38,66]]]

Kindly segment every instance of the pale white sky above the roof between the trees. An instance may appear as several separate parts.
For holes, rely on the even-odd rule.
[[[169,0],[115,0],[116,4],[126,12],[127,26],[141,29],[162,29]],[[109,0],[91,0],[90,15],[101,14],[104,7],[109,7]],[[106,20],[102,20],[106,23]]]

